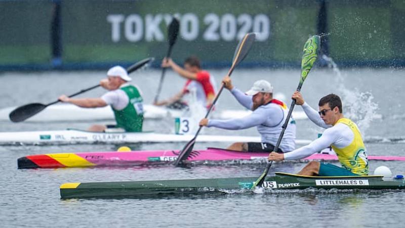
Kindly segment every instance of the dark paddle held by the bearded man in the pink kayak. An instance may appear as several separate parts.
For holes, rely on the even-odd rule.
[[[233,70],[235,69],[235,67],[237,66],[237,64],[239,64],[242,60],[245,59],[245,57],[248,55],[253,42],[256,39],[256,35],[255,33],[248,33],[245,35],[245,37],[239,42],[239,44],[236,47],[235,53],[233,54],[233,59],[232,59],[232,66],[228,71],[227,75],[231,75]],[[212,110],[213,106],[215,105],[215,103],[218,100],[219,95],[221,94],[222,90],[224,89],[224,84],[222,84],[221,89],[219,90],[217,96],[215,97],[213,103],[211,104],[210,108],[207,111],[207,115],[205,116],[205,118],[208,118],[208,115],[210,114],[210,111]],[[186,160],[188,158],[188,156],[190,155],[193,147],[194,147],[194,143],[195,143],[195,139],[198,136],[198,133],[200,132],[202,126],[200,126],[197,130],[197,132],[195,133],[194,138],[191,139],[191,141],[189,141],[184,148],[180,151],[179,156],[177,157],[177,160],[174,162],[175,166],[179,166],[179,164],[181,164],[184,160]]]

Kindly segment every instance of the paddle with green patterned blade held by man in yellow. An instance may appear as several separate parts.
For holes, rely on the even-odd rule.
[[[301,78],[300,78],[300,83],[298,84],[297,91],[301,90],[302,84],[304,84],[305,79],[308,76],[309,71],[311,70],[313,63],[316,61],[318,57],[318,47],[319,47],[319,39],[320,37],[318,35],[313,35],[310,37],[307,42],[305,42],[304,45],[304,51],[302,55],[302,61],[301,61]],[[294,106],[295,106],[296,100],[293,99],[290,110],[287,115],[287,119],[282,125],[282,130],[280,132],[280,136],[278,136],[277,143],[274,146],[273,151],[278,150],[278,146],[280,145],[282,136],[284,136],[284,132],[286,131],[287,125],[290,121],[291,113],[293,112]],[[267,164],[266,169],[264,170],[263,174],[253,183],[252,190],[256,188],[256,186],[261,187],[265,177],[267,176],[267,173],[270,170],[271,165],[273,164],[273,161]]]

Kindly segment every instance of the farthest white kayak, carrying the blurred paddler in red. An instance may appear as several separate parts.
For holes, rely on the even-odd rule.
[[[162,119],[167,117],[180,118],[184,111],[144,104],[145,119]],[[0,121],[9,121],[9,114],[17,107],[0,109]],[[217,119],[240,118],[249,115],[250,110],[217,110],[212,112],[212,117]],[[293,111],[295,120],[307,119],[303,111]],[[109,106],[101,108],[82,108],[73,104],[51,105],[25,122],[57,122],[57,121],[101,121],[113,120],[114,113]]]

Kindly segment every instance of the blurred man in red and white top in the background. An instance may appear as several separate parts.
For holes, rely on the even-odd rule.
[[[197,57],[191,56],[184,61],[184,68],[177,65],[172,59],[165,58],[161,63],[162,67],[171,67],[181,77],[187,79],[183,89],[175,96],[163,100],[157,101],[154,105],[172,105],[179,103],[184,95],[194,92],[196,101],[205,107],[210,107],[215,98],[215,81],[210,73],[206,70],[202,70],[200,61]]]

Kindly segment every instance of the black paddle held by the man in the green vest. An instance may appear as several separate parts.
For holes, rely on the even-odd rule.
[[[153,58],[147,58],[147,59],[143,59],[143,60],[131,65],[130,67],[127,68],[128,74],[134,72],[135,70],[137,70],[143,66],[146,66],[148,63],[150,63],[152,61],[153,61]],[[74,93],[74,94],[70,95],[69,97],[74,97],[76,95],[82,94],[89,90],[95,89],[99,86],[100,85],[96,85],[96,86],[92,86],[92,87],[84,89],[84,90],[80,90],[79,92]],[[15,123],[25,121],[26,119],[34,116],[36,113],[44,110],[49,105],[56,104],[59,101],[60,100],[57,100],[57,101],[54,101],[49,104],[31,103],[31,104],[26,104],[26,105],[20,106],[20,107],[14,109],[12,112],[10,112],[9,118],[12,122],[15,122]]]

